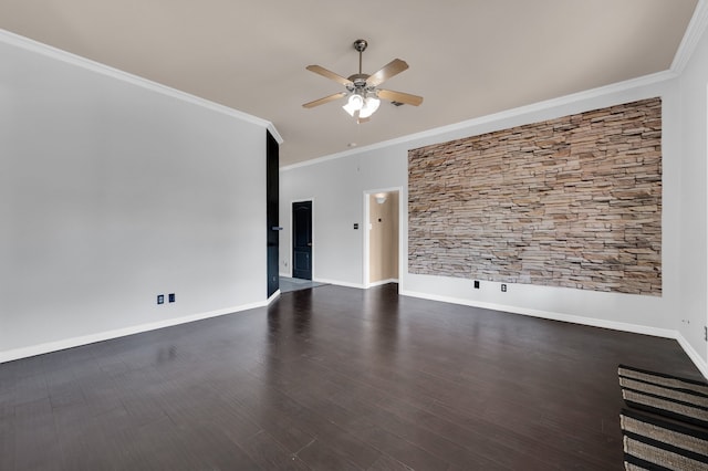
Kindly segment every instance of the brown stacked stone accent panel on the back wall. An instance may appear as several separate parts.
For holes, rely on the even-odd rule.
[[[410,150],[410,273],[662,294],[662,101]]]

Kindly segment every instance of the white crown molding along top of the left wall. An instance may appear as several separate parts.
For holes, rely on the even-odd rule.
[[[211,102],[209,100],[181,92],[179,90],[159,84],[157,82],[153,82],[150,80],[140,77],[138,75],[133,75],[131,73],[102,64],[100,62],[95,62],[90,59],[82,57],[81,55],[72,54],[71,52],[66,52],[61,49],[56,49],[51,45],[41,43],[39,41],[34,41],[29,38],[21,36],[19,34],[12,33],[7,30],[0,29],[0,42],[4,44],[13,45],[15,48],[23,49],[25,51],[42,54],[44,56],[64,62],[66,64],[72,64],[77,67],[82,67],[84,70],[91,71],[101,75],[106,75],[112,78],[116,78],[122,82],[126,82],[126,83],[143,87],[166,96],[170,96],[173,98],[177,98],[179,101],[183,101],[192,105],[197,105],[216,113],[220,113],[220,114],[235,117],[258,126],[262,126],[264,128],[268,128],[268,130],[270,130],[270,133],[273,135],[275,140],[278,140],[278,144],[283,143],[283,138],[280,136],[280,134],[275,129],[275,126],[272,123],[270,123],[269,121],[259,118],[257,116],[249,115],[248,113],[239,112],[238,109],[233,109],[228,106],[223,106],[218,103]]]

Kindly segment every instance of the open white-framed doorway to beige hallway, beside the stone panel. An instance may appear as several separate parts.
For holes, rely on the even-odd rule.
[[[400,188],[364,192],[364,285],[398,283],[400,272]]]

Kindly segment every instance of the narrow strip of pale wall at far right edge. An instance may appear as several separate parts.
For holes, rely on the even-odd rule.
[[[708,32],[704,32],[679,78],[680,86],[680,266],[681,322],[677,326],[690,347],[708,363],[704,326],[708,325],[706,217],[708,206]]]

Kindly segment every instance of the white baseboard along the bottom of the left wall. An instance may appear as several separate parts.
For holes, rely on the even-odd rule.
[[[280,291],[277,291],[273,296],[279,295]],[[273,299],[271,296],[271,299]],[[79,347],[82,345],[94,344],[96,342],[110,341],[112,338],[125,337],[127,335],[139,334],[143,332],[155,331],[157,328],[171,327],[173,325],[186,324],[188,322],[201,321],[209,317],[218,317],[226,314],[232,314],[241,311],[248,311],[256,307],[263,307],[268,305],[269,301],[243,304],[235,307],[227,307],[218,311],[211,311],[207,313],[191,314],[183,317],[168,318],[165,321],[153,322],[149,324],[133,325],[129,327],[117,328],[114,331],[100,332],[97,334],[83,335],[81,337],[65,338],[56,342],[48,342],[44,344],[32,345],[29,347],[15,348],[11,350],[0,352],[0,364],[12,362],[20,358],[27,358],[31,356],[42,355],[51,352],[63,350],[66,348]]]

